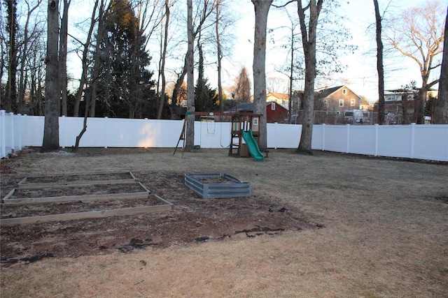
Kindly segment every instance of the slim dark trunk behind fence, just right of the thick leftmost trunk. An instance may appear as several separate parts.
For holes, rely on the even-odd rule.
[[[67,34],[69,27],[69,6],[71,0],[64,0],[61,32],[59,35],[59,77],[61,79],[62,115],[67,115]]]

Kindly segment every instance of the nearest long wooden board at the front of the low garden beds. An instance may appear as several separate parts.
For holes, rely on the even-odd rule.
[[[51,214],[43,216],[29,216],[21,218],[5,218],[0,220],[1,227],[11,227],[13,225],[32,225],[36,223],[48,223],[50,221],[73,221],[79,219],[104,218],[110,216],[130,216],[145,214],[148,212],[171,211],[173,204],[163,204],[146,207],[131,207],[101,211],[86,211],[78,213]]]

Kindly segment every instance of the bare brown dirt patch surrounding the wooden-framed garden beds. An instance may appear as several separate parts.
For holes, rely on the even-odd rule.
[[[129,252],[147,246],[167,247],[191,242],[255,237],[284,230],[318,228],[293,207],[278,204],[269,196],[202,200],[184,184],[181,172],[134,172],[142,184],[175,205],[174,211],[139,216],[116,216],[92,220],[41,223],[1,228],[1,262],[41,260],[38,256],[78,257],[113,251]],[[216,180],[215,180],[216,181]],[[136,191],[130,185],[86,186],[80,194],[92,191],[113,193]],[[20,190],[27,195],[69,195],[79,188]],[[36,193],[37,192],[37,193]],[[88,209],[112,209],[148,204],[147,200],[111,200],[90,204],[64,204],[2,207],[3,218],[52,213],[73,213]]]

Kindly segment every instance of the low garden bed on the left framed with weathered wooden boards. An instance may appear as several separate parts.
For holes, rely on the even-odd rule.
[[[114,180],[116,178],[116,180]],[[171,211],[130,172],[29,177],[1,200],[0,225]]]

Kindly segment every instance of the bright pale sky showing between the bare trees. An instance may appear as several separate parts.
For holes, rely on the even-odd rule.
[[[83,1],[83,0],[82,0]],[[429,0],[432,1],[432,0]],[[183,3],[185,2],[185,3]],[[284,3],[286,1],[274,0],[274,4]],[[374,37],[374,28],[367,30],[368,27],[374,27],[374,5],[372,0],[344,0],[340,1],[342,6],[338,14],[344,15],[346,21],[344,25],[349,28],[353,36],[352,43],[358,46],[354,54],[344,54],[340,57],[342,64],[346,65],[343,73],[331,75],[326,80],[316,80],[315,89],[324,87],[336,87],[346,84],[358,96],[365,96],[370,103],[374,103],[378,98],[377,87],[377,66],[376,66],[376,42]],[[398,15],[407,8],[421,6],[426,0],[379,0],[380,10],[384,10],[387,3],[388,13]],[[448,0],[442,0],[442,3],[448,3]],[[177,6],[186,6],[185,0],[179,0]],[[293,3],[293,5],[295,5]],[[71,6],[72,9],[72,6]],[[235,24],[235,43],[232,46],[233,52],[223,59],[223,87],[230,88],[235,82],[235,77],[239,75],[241,67],[246,67],[248,75],[252,80],[252,60],[253,60],[253,28],[255,22],[255,13],[253,4],[250,0],[234,0],[230,6],[232,14],[236,15]],[[293,15],[297,17],[297,13]],[[286,22],[286,23],[285,23]],[[288,18],[280,13],[278,8],[270,8],[268,15],[268,29],[288,25]],[[275,30],[274,30],[275,31]],[[279,34],[275,35],[280,38]],[[268,39],[270,38],[268,34]],[[151,54],[156,55],[154,52]],[[289,64],[288,53],[279,48],[279,40],[276,43],[267,42],[266,53],[266,75],[269,78],[275,78],[279,82],[274,91],[279,93],[288,93],[288,77],[279,72],[284,65]],[[441,57],[440,57],[441,59]],[[157,58],[153,56],[152,68],[155,68]],[[72,69],[76,69],[77,62],[72,62]],[[394,68],[393,72],[388,71],[385,74],[385,89],[398,89],[412,80],[421,84],[419,67],[412,59],[397,55],[393,59],[394,66],[385,65],[386,70]],[[69,66],[70,67],[70,66]],[[196,70],[195,70],[196,71]],[[217,87],[216,65],[206,68],[206,76],[211,83],[211,87]],[[440,75],[440,72],[433,73]],[[195,73],[195,80],[197,73]],[[269,83],[268,83],[269,84]],[[77,86],[76,86],[77,87]],[[297,82],[295,89],[303,89],[303,82]]]

